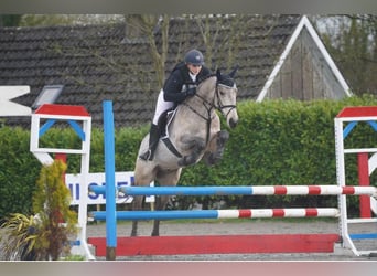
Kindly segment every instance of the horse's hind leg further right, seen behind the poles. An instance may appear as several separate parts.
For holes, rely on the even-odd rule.
[[[161,171],[157,176],[157,180],[159,181],[160,185],[176,185],[177,181],[180,180],[182,168],[173,171]],[[158,198],[155,210],[164,210],[166,203],[169,201],[169,195],[162,195]],[[160,235],[160,221],[154,220],[153,222],[153,230],[152,236]]]

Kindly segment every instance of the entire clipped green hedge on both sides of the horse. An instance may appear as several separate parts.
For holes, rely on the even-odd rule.
[[[345,106],[377,106],[373,96],[344,100],[266,100],[238,104],[239,125],[220,163],[202,162],[183,170],[180,185],[276,185],[336,184],[334,117]],[[224,121],[223,121],[223,125]],[[224,126],[226,128],[226,126]],[[116,170],[133,170],[138,147],[149,127],[116,130]],[[359,124],[345,141],[346,147],[377,147],[377,135]],[[41,164],[29,151],[30,131],[0,128],[0,217],[10,212],[28,212]],[[50,129],[43,146],[79,147],[69,128]],[[79,171],[78,156],[68,156],[68,172]],[[104,171],[103,129],[91,132],[90,171]],[[346,182],[357,184],[355,155],[346,156]],[[376,185],[376,177],[371,177]],[[357,210],[357,197],[349,197]],[[191,208],[194,202],[215,208],[337,206],[336,197],[176,197],[171,208]]]

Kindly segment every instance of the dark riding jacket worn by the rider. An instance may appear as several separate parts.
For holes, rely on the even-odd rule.
[[[194,83],[190,77],[190,71],[186,64],[184,62],[179,63],[163,85],[164,100],[181,104],[187,97],[187,88],[192,85],[197,85],[209,75],[211,71],[207,67],[202,66],[201,72],[196,75],[196,82]]]

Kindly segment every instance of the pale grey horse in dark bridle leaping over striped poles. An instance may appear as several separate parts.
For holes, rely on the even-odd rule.
[[[226,118],[228,127],[238,123],[236,108],[237,86],[234,82],[237,67],[229,74],[219,70],[202,81],[194,96],[180,104],[165,124],[165,134],[159,140],[153,160],[137,158],[134,168],[136,187],[176,185],[182,168],[203,160],[207,166],[217,163],[224,152],[229,134],[220,129],[216,110]],[[138,157],[148,149],[149,135],[139,148]],[[157,197],[155,210],[164,210],[169,195]],[[142,209],[142,195],[133,197],[132,210]],[[152,236],[159,236],[160,221],[154,220]],[[138,221],[132,222],[131,236],[138,235]]]

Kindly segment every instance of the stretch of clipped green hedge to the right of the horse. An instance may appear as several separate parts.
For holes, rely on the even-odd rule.
[[[371,96],[341,102],[267,100],[238,105],[240,117],[220,164],[186,169],[182,185],[336,184],[334,117],[345,106],[377,105]],[[345,141],[351,147],[377,147],[377,135],[358,124]],[[346,181],[357,184],[356,156],[346,156]],[[376,184],[376,178],[371,178]],[[197,200],[197,199],[194,199]],[[218,197],[201,198],[205,208]],[[226,197],[228,208],[337,206],[335,197]],[[349,200],[357,209],[356,197]],[[193,203],[186,199],[186,205]]]

